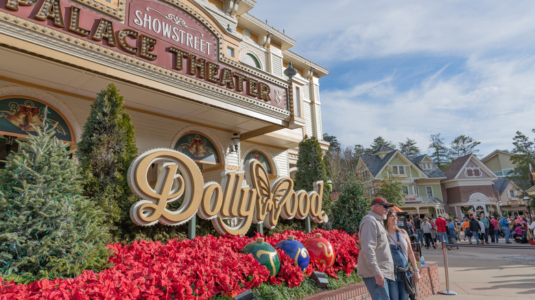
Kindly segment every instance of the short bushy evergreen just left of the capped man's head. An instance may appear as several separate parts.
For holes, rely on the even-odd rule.
[[[347,178],[342,195],[333,204],[333,228],[348,234],[359,232],[359,223],[370,210],[370,199],[354,174]]]

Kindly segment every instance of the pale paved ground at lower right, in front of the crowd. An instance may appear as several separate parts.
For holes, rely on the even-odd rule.
[[[468,245],[468,242],[461,240],[461,244]],[[484,245],[448,251],[449,290],[458,295],[438,294],[428,299],[535,299],[535,246],[506,244],[505,240],[490,245],[507,248]],[[440,248],[423,249],[423,255],[426,263],[438,264],[440,290],[446,290],[444,255]]]

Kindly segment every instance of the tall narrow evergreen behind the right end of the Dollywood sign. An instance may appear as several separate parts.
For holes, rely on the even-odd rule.
[[[307,138],[299,143],[299,158],[294,190],[313,190],[313,183],[323,180],[322,210],[331,218],[331,195],[327,190],[327,173],[322,159],[322,149],[316,138]]]

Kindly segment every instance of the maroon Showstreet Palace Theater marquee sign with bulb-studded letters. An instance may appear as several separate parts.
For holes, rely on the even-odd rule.
[[[219,39],[191,14],[152,0],[128,5],[126,24],[67,0],[7,0],[0,11],[288,110],[285,87],[219,62]]]

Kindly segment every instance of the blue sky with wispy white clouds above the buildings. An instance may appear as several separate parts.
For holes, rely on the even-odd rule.
[[[345,146],[464,134],[484,157],[535,128],[535,1],[257,0],[320,78],[323,132]]]

